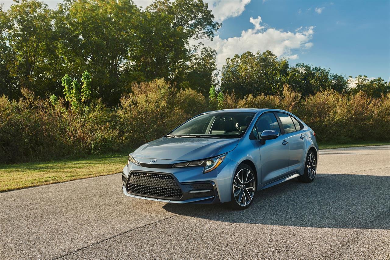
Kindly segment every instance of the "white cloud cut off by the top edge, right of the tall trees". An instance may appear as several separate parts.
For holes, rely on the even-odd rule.
[[[245,10],[250,0],[204,0],[215,16],[215,21],[222,22],[230,17],[236,17]]]

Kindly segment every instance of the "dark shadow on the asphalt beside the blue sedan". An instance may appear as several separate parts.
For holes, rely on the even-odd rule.
[[[296,179],[256,193],[246,210],[217,205],[167,203],[169,212],[224,221],[316,228],[390,229],[390,177],[317,174],[312,183]]]

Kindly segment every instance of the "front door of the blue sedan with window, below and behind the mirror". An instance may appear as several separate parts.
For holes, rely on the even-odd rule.
[[[273,112],[266,112],[259,117],[252,130],[255,139],[260,140],[260,135],[264,130],[276,130],[280,135],[277,139],[267,140],[265,144],[259,142],[263,185],[282,178],[289,171],[289,146],[286,143],[288,138],[280,130]]]

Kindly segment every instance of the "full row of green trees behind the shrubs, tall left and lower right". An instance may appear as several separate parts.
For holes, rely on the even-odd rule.
[[[131,93],[133,82],[156,78],[204,96],[214,85],[241,98],[280,95],[285,84],[303,97],[324,90],[380,97],[390,90],[383,79],[363,76],[353,78],[351,89],[343,75],[289,66],[269,51],[236,55],[218,71],[215,50],[197,42],[213,39],[220,26],[202,0],[160,0],[145,10],[132,0],[65,0],[55,10],[21,0],[0,10],[0,95],[18,99],[26,88],[41,97],[64,97],[62,77],[80,81],[84,71],[93,78],[91,98],[109,107]]]

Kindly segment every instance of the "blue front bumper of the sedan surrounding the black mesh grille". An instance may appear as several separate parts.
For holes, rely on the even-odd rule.
[[[123,168],[122,173],[122,192],[124,195],[149,199],[154,201],[169,202],[169,203],[191,203],[191,204],[213,204],[219,202],[227,202],[231,199],[232,176],[238,166],[237,162],[226,158],[222,164],[209,173],[203,173],[203,167],[186,167],[186,168],[148,168],[130,164]],[[167,198],[159,195],[151,195],[150,193],[140,193],[129,188],[128,179],[131,173],[145,174],[165,174],[173,176],[177,185],[183,192],[181,198]],[[213,187],[212,192],[193,193],[197,185],[209,183]],[[195,186],[194,186],[195,185]]]

